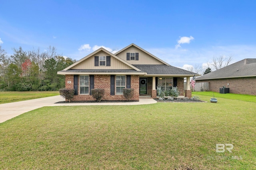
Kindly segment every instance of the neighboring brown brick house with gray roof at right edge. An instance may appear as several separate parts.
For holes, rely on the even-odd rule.
[[[196,78],[208,82],[210,91],[225,86],[230,93],[256,95],[256,59],[244,59]]]

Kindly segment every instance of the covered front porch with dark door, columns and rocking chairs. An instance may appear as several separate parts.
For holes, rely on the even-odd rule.
[[[141,76],[139,78],[139,95],[140,98],[159,98],[159,92],[164,90],[178,90],[178,98],[192,97],[189,83],[187,90],[184,90],[184,78],[190,80],[190,76]]]

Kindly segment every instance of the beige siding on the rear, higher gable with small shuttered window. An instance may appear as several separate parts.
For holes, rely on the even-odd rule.
[[[126,60],[126,53],[139,53],[139,60]],[[124,61],[127,61],[130,64],[164,64],[161,61],[155,59],[154,57],[148,55],[144,51],[131,46],[128,49],[125,49],[121,53],[116,55],[117,57],[120,57]]]

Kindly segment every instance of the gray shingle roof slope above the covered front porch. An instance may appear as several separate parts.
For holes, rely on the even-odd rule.
[[[193,75],[196,74],[194,72],[183,70],[174,66],[167,66],[164,64],[132,64],[133,66],[139,68],[143,72],[147,74],[177,74],[177,75]]]

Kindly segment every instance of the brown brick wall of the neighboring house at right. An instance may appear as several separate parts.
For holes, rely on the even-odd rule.
[[[209,82],[210,91],[213,92],[220,92],[220,88],[226,86],[230,93],[256,95],[256,77],[196,80],[196,82]]]

